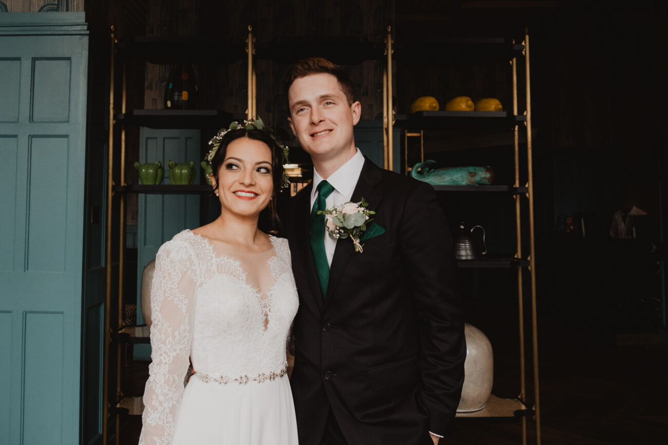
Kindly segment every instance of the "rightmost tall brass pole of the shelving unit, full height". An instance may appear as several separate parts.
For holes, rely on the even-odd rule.
[[[534,239],[534,173],[531,143],[531,75],[529,72],[529,33],[524,30],[524,62],[526,63],[526,155],[529,179],[529,230],[531,240],[531,321],[534,358],[534,395],[536,398],[536,444],[540,445],[540,393],[538,386],[538,320],[536,308],[536,246]]]

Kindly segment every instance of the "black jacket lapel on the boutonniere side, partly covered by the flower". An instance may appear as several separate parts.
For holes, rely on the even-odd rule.
[[[353,191],[353,195],[350,199],[351,202],[359,202],[364,198],[364,200],[369,203],[369,207],[367,208],[369,210],[375,210],[383,197],[383,193],[379,189],[380,187],[376,187],[380,180],[381,169],[365,157],[362,172],[359,175],[355,191]],[[350,257],[353,254],[355,254],[355,248],[353,247],[353,242],[351,240],[345,239],[337,241],[336,249],[334,250],[334,258],[332,259],[332,264],[329,268],[329,284],[327,285],[325,309],[327,309],[331,300],[333,300],[333,296],[341,281],[341,276],[343,276],[345,266],[348,264],[348,260],[350,260]],[[363,254],[364,252],[361,254],[357,253],[356,255]]]

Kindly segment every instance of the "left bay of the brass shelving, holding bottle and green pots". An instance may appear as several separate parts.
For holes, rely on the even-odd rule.
[[[112,326],[112,310],[117,311],[117,320],[120,325],[123,316],[123,270],[124,270],[124,249],[125,249],[125,196],[127,193],[207,193],[210,187],[206,185],[128,185],[125,181],[126,167],[126,125],[144,125],[153,128],[202,128],[218,127],[218,122],[231,119],[253,119],[256,113],[257,91],[255,75],[255,37],[253,37],[253,28],[248,26],[248,35],[246,37],[246,47],[244,49],[230,49],[226,51],[228,59],[224,62],[230,63],[234,60],[246,58],[248,61],[248,109],[245,115],[234,115],[220,110],[126,110],[126,63],[127,59],[142,59],[152,63],[170,63],[174,58],[186,57],[192,61],[206,61],[210,56],[211,48],[220,47],[218,45],[206,45],[208,41],[202,41],[198,38],[159,38],[159,37],[139,37],[130,43],[119,43],[116,41],[114,27],[110,34],[110,104],[109,104],[109,148],[108,148],[108,181],[107,181],[107,228],[106,228],[106,313],[105,313],[105,343],[104,343],[104,374],[103,374],[103,415],[102,430],[103,444],[109,442],[109,420],[111,415],[116,416],[116,434],[114,435],[116,444],[120,440],[120,415],[141,416],[144,410],[144,404],[141,397],[124,397],[121,390],[122,378],[122,348],[116,348],[116,382],[115,399],[109,400],[109,366],[112,340],[126,344],[146,344],[149,343],[149,330],[146,326]],[[211,42],[208,42],[211,43]],[[170,51],[164,51],[165,45],[170,45]],[[114,78],[116,77],[116,55],[118,50],[124,51],[122,63],[122,103],[120,113],[117,112],[114,90]],[[219,54],[216,53],[216,57]],[[220,60],[218,60],[220,61]],[[178,125],[175,125],[177,124]],[[114,127],[120,125],[120,163],[115,165],[114,156]],[[114,173],[118,171],[120,183],[114,183]],[[119,194],[121,199],[118,205],[118,232],[114,233],[113,221],[114,213],[114,195]],[[112,217],[114,215],[114,217]],[[118,237],[118,238],[114,238]],[[112,240],[118,240],[118,272],[114,276],[114,265],[112,264]],[[112,289],[114,282],[118,286],[118,307],[112,308]]]

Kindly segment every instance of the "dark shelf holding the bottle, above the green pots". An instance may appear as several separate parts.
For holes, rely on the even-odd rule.
[[[246,115],[217,109],[133,109],[116,113],[114,119],[124,125],[151,128],[220,128],[232,120],[246,119]]]

